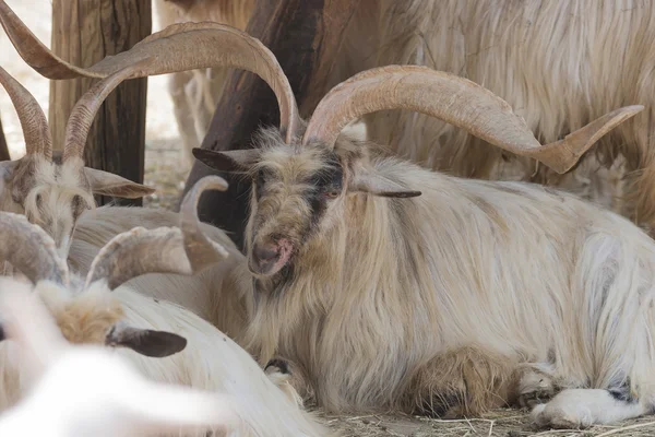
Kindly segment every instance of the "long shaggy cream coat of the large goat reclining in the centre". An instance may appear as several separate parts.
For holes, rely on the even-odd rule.
[[[321,165],[312,147],[272,131],[261,142],[258,166],[283,175],[271,194],[281,206],[259,223],[253,204],[247,241],[295,226],[302,212],[286,197],[307,177],[299,168]],[[299,363],[331,411],[396,408],[431,359],[467,346],[516,366],[551,363],[564,389],[629,380],[639,411],[652,405],[655,241],[643,231],[538,185],[454,178],[396,158],[361,165],[422,196],[333,201],[297,248],[290,279],[260,293],[249,347],[262,362]]]

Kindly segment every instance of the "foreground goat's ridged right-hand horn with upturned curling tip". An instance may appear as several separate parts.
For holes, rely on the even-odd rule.
[[[218,176],[206,176],[187,193],[181,206],[181,231],[177,227],[145,229],[136,227],[114,237],[98,252],[86,286],[107,279],[109,290],[146,273],[191,275],[228,257],[227,250],[207,239],[200,228],[196,205],[207,189],[225,191],[227,182]]]

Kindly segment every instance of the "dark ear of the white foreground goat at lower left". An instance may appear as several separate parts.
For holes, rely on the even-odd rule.
[[[182,351],[187,346],[187,339],[171,332],[117,323],[105,338],[105,344],[129,347],[141,355],[162,358]]]

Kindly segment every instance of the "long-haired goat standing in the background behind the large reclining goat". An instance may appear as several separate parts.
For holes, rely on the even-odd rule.
[[[238,7],[222,0],[183,3],[188,9],[159,0],[162,25],[212,20],[243,29],[254,7],[252,1],[234,2]],[[635,8],[621,2],[590,8],[584,0],[505,0],[492,7],[458,0],[361,3],[322,92],[374,67],[428,66],[465,76],[505,99],[543,143],[557,141],[612,108],[643,104],[646,114],[602,139],[597,153],[588,154],[567,175],[508,156],[420,114],[380,111],[367,116],[366,122],[369,139],[390,144],[398,155],[429,168],[556,186],[650,228],[655,222],[655,147],[648,131],[655,122],[655,102],[648,101],[654,86],[654,33],[652,3]],[[617,52],[622,57],[618,63]],[[188,156],[206,133],[206,120],[226,78],[224,70],[215,70],[177,73],[171,79]]]

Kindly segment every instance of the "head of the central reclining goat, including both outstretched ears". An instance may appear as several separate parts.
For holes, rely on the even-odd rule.
[[[379,151],[359,137],[344,131],[334,149],[300,146],[285,144],[279,131],[265,129],[258,134],[257,149],[193,151],[215,169],[239,169],[252,179],[247,249],[254,275],[272,276],[291,265],[310,241],[327,234],[344,215],[350,196],[420,194],[377,174],[369,155]]]

